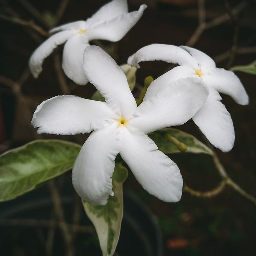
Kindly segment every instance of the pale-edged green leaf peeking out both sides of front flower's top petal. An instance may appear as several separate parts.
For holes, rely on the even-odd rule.
[[[123,69],[123,72],[126,74],[127,82],[130,87],[130,90],[133,91],[135,84],[136,84],[136,71],[137,68],[134,66],[129,66],[128,64],[123,64],[120,66]],[[91,100],[98,100],[98,101],[105,101],[99,91],[96,91]]]

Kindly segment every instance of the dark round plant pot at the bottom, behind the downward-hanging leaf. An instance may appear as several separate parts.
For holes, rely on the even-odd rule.
[[[65,193],[61,194],[62,207],[66,222],[72,223],[73,204],[77,195],[72,187],[68,188],[69,191],[66,188],[65,186]],[[80,210],[80,225],[87,226],[88,230],[77,234],[74,242],[75,255],[101,255],[92,223],[83,213],[82,207]],[[18,199],[0,203],[0,255],[45,256],[50,228],[49,225],[44,225],[45,223],[34,225],[33,220],[52,220],[53,213],[52,199],[47,186]],[[28,220],[28,223],[22,223],[21,220],[24,219]],[[32,221],[31,225],[29,221]],[[59,228],[55,229],[51,251],[54,256],[65,255],[64,240]],[[115,256],[131,255],[162,256],[162,237],[156,218],[147,206],[133,194],[124,193],[124,214]]]

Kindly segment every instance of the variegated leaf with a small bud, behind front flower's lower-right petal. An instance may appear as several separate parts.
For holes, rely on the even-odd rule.
[[[150,133],[149,137],[156,142],[156,145],[159,147],[161,152],[164,152],[165,154],[180,153],[178,147],[168,140],[168,135],[171,135],[179,142],[184,143],[187,146],[187,150],[185,152],[209,155],[213,154],[211,149],[197,140],[196,137],[181,130],[165,128],[154,133]]]

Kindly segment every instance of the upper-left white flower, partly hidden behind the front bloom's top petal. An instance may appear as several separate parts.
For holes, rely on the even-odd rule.
[[[62,67],[66,75],[79,85],[88,83],[83,73],[83,51],[90,40],[102,39],[116,42],[132,28],[143,14],[147,6],[141,5],[135,12],[128,12],[126,0],[112,0],[103,5],[86,21],[75,21],[52,28],[50,36],[33,52],[29,67],[33,76],[38,77],[42,71],[44,59],[63,43]]]

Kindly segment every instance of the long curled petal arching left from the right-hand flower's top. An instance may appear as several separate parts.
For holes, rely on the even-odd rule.
[[[162,60],[168,63],[178,63],[183,66],[197,68],[197,62],[185,50],[175,45],[152,44],[142,47],[128,58],[130,66],[140,68],[139,62]]]

